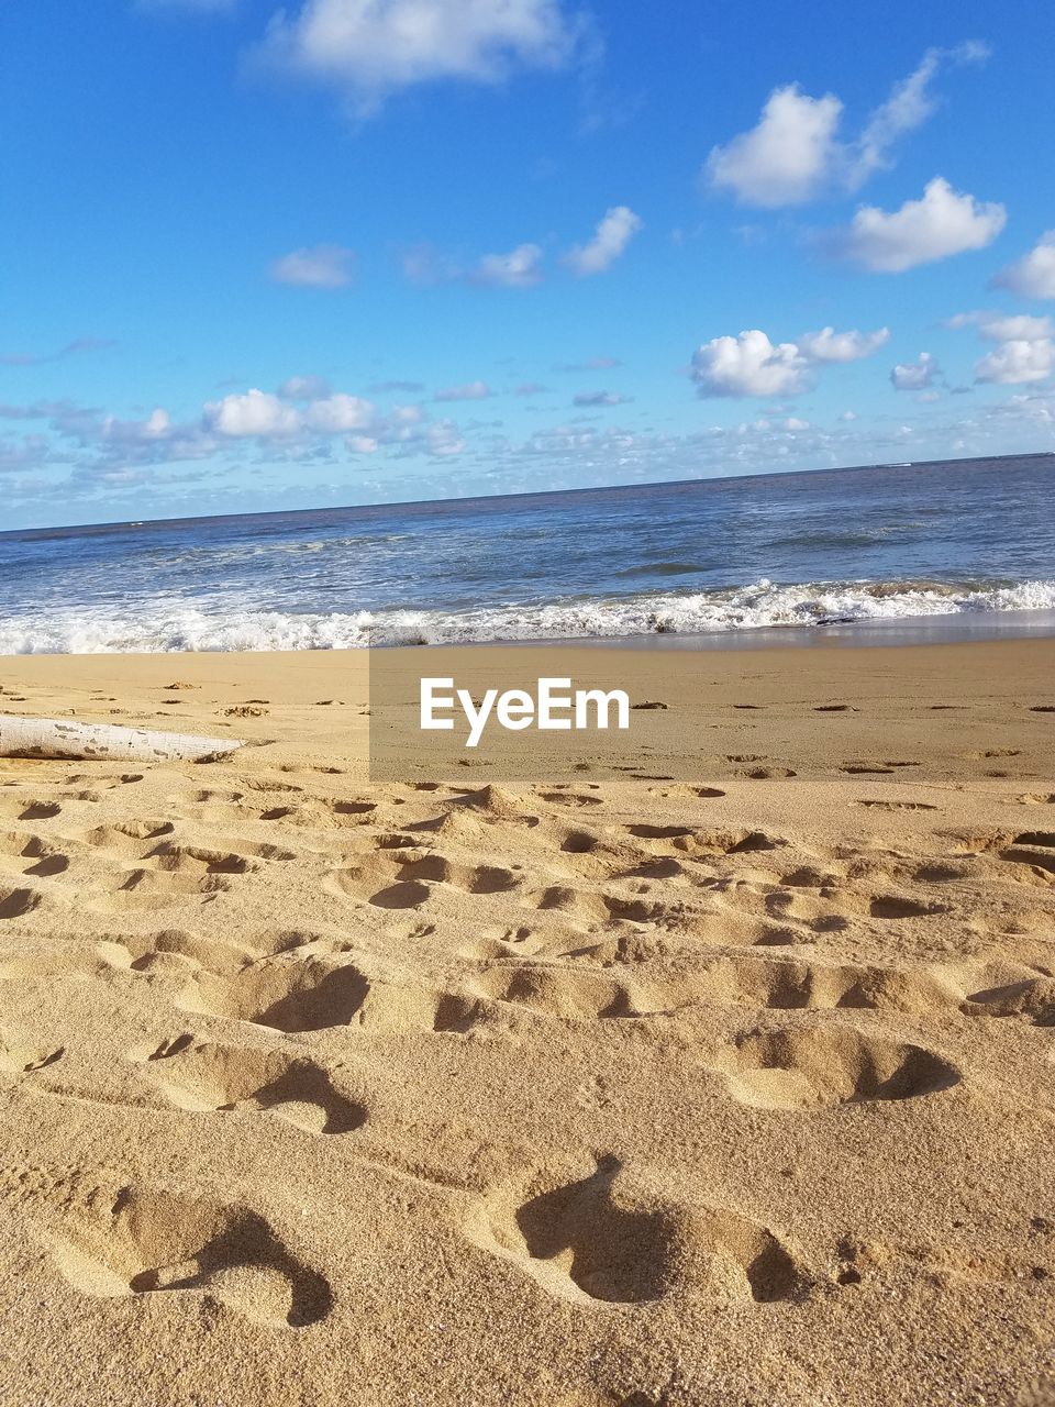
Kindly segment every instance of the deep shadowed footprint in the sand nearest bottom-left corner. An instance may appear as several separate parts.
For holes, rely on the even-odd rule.
[[[108,1204],[107,1204],[108,1203]],[[63,1279],[82,1294],[203,1294],[259,1324],[304,1328],[333,1304],[326,1279],[245,1206],[122,1188],[90,1196],[39,1235]]]

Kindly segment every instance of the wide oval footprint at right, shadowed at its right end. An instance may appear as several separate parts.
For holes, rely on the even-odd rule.
[[[788,1110],[917,1099],[959,1081],[948,1061],[921,1045],[836,1024],[747,1031],[712,1069],[740,1103]]]

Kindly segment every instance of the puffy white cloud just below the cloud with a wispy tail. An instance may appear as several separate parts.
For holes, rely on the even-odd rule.
[[[903,273],[968,249],[985,249],[1004,228],[1007,212],[995,201],[958,194],[935,176],[921,200],[888,212],[862,205],[850,225],[827,238],[831,253],[874,273]]]

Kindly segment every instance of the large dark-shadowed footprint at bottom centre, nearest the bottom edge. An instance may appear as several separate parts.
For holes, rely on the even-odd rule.
[[[641,1193],[613,1157],[574,1180],[542,1171],[498,1188],[471,1209],[464,1230],[547,1293],[584,1306],[643,1304],[696,1286],[775,1303],[807,1286],[768,1228],[730,1210]]]

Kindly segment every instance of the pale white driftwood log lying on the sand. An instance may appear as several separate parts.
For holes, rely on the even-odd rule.
[[[146,727],[75,723],[60,718],[0,715],[0,757],[72,757],[107,761],[201,761],[242,747],[241,739],[156,733]]]

